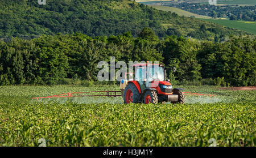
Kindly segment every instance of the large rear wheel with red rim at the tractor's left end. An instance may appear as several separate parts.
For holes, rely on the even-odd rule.
[[[125,95],[123,96],[123,100],[125,104],[138,103],[139,91],[133,83],[130,83],[126,86],[124,93]]]

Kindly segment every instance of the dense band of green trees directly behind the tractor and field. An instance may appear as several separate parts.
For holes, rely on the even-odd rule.
[[[202,28],[203,29],[203,28]],[[184,37],[159,39],[150,28],[138,37],[89,37],[81,33],[43,35],[32,40],[18,37],[0,42],[0,85],[65,84],[67,79],[97,81],[97,63],[110,61],[159,61],[171,82],[204,80],[219,86],[255,86],[256,39],[230,37],[214,43]]]

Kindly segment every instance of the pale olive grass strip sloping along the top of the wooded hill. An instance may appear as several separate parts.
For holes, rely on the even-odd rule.
[[[149,6],[152,6],[152,7],[156,8],[157,10],[175,12],[176,14],[178,14],[180,16],[187,16],[187,17],[195,16],[195,18],[212,19],[210,16],[194,14],[192,12],[181,10],[180,8],[176,8],[176,7],[160,6],[160,5],[149,5]]]

